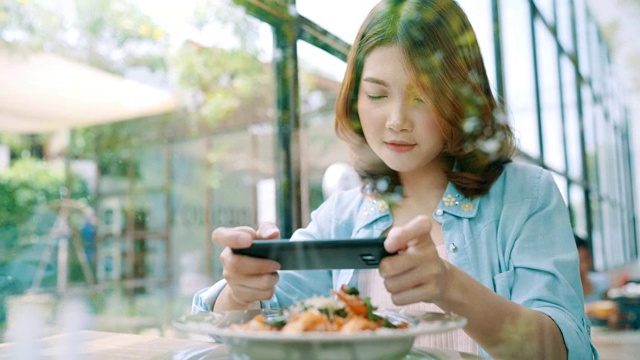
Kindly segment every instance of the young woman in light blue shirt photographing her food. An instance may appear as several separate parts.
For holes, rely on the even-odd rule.
[[[511,162],[504,119],[455,1],[381,1],[353,44],[336,108],[365,186],[333,195],[293,238],[386,236],[399,253],[373,275],[278,273],[230,250],[277,238],[275,226],[218,228],[224,280],[195,295],[194,311],[285,307],[349,284],[464,316],[464,333],[439,342],[456,350],[597,357],[566,205],[547,171]]]

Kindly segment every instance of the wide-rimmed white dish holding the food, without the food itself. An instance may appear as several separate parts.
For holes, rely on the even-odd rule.
[[[337,332],[305,332],[285,334],[277,331],[239,331],[229,329],[259,313],[266,316],[274,310],[228,311],[188,315],[174,322],[180,330],[208,334],[229,347],[233,359],[347,360],[399,359],[409,353],[416,336],[440,333],[466,325],[465,318],[455,314],[385,309],[376,313],[391,322],[405,321],[407,329],[379,329],[356,334]]]

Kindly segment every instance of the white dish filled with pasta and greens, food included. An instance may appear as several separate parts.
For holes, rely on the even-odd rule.
[[[419,335],[466,325],[456,314],[378,309],[343,286],[286,309],[211,312],[174,322],[225,343],[237,359],[401,359]]]

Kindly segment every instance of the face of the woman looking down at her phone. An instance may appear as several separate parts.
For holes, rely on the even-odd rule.
[[[440,165],[444,138],[437,115],[415,89],[396,46],[374,49],[365,59],[358,115],[367,143],[400,173]],[[437,163],[437,164],[436,164]]]

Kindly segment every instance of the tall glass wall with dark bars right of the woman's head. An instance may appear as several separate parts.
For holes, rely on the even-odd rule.
[[[514,127],[527,134],[522,156],[556,173],[576,234],[592,241],[597,269],[635,259],[632,170],[619,160],[629,159],[621,151],[628,150],[625,107],[616,101],[619,85],[594,19],[584,1],[500,4],[505,98]],[[508,35],[523,33],[531,39],[524,46]],[[523,73],[534,77],[522,81],[530,78]],[[522,101],[529,111],[520,110]]]

